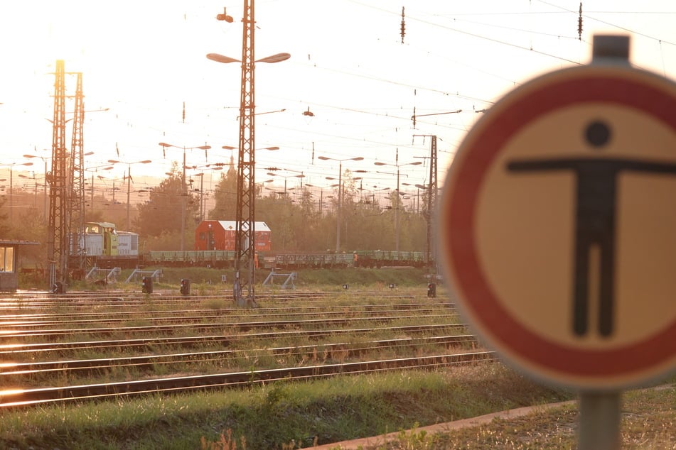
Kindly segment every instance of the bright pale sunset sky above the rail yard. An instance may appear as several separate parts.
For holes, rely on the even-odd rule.
[[[0,15],[0,155],[51,153],[56,60],[82,72],[85,167],[114,158],[132,174],[163,177],[171,161],[230,160],[237,147],[243,2],[92,0],[8,1]],[[222,13],[232,23],[217,21]],[[402,39],[402,7],[405,34]],[[483,109],[537,75],[591,58],[596,33],[631,35],[636,67],[676,74],[676,3],[569,0],[257,0],[255,57],[290,53],[256,65],[256,181],[331,185],[338,163],[367,170],[365,189],[429,182],[429,137],[437,136],[439,180]],[[402,41],[403,40],[403,41]],[[68,76],[67,94],[75,93]],[[185,118],[183,105],[185,104]],[[67,111],[73,101],[67,102]],[[106,110],[106,111],[99,111]],[[283,111],[282,111],[283,110]],[[311,111],[313,116],[304,115]],[[416,114],[415,126],[412,116]],[[70,147],[70,126],[67,146]],[[414,135],[419,135],[414,137]],[[168,148],[163,155],[159,142]],[[236,159],[236,155],[235,155]],[[409,165],[413,162],[421,165]],[[385,163],[377,166],[374,163]],[[36,176],[43,173],[36,163]],[[390,166],[388,166],[390,165]],[[404,167],[408,165],[408,167]],[[127,166],[105,176],[122,178]],[[0,168],[0,173],[2,170]],[[15,168],[15,170],[18,170]],[[385,173],[378,173],[378,172]],[[208,178],[207,178],[208,180]]]

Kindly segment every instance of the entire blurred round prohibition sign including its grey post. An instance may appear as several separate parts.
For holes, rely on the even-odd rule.
[[[579,390],[579,449],[618,449],[621,390],[676,367],[676,84],[591,64],[514,89],[463,141],[440,243],[463,314],[505,359]]]

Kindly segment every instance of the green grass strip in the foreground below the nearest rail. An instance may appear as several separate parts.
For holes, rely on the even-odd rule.
[[[196,449],[203,439],[215,443],[230,430],[229,439],[245,439],[249,449],[294,449],[571,396],[498,363],[289,381],[249,390],[4,411],[0,447]]]

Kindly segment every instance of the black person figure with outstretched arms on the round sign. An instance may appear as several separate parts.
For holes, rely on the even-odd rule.
[[[603,120],[591,121],[584,131],[589,149],[603,150],[611,141],[611,127]],[[515,159],[509,172],[569,170],[576,177],[575,252],[573,280],[574,334],[589,329],[589,257],[599,249],[599,334],[613,334],[615,285],[615,234],[617,179],[621,172],[651,172],[676,175],[676,164],[626,158]]]

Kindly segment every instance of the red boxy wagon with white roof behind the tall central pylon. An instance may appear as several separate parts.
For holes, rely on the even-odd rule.
[[[234,220],[203,220],[195,229],[195,250],[235,250]],[[265,222],[255,222],[254,248],[272,250],[272,230]]]

